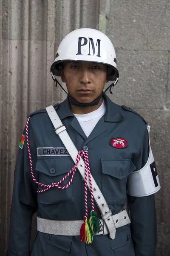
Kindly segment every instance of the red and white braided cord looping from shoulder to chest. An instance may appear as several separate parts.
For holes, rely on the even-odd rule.
[[[37,183],[39,186],[43,186],[46,187],[45,189],[39,190],[37,189],[37,193],[40,192],[45,192],[48,189],[51,189],[53,187],[57,187],[58,189],[66,189],[68,186],[70,186],[71,182],[73,181],[78,163],[80,161],[80,159],[82,158],[82,156],[84,155],[84,159],[85,159],[85,218],[88,218],[88,200],[87,200],[87,177],[89,179],[89,183],[90,183],[90,192],[91,192],[91,206],[92,209],[94,209],[94,197],[93,197],[93,187],[92,187],[92,182],[91,182],[91,172],[90,172],[90,165],[89,165],[89,161],[88,161],[88,151],[84,151],[84,150],[80,150],[77,154],[77,159],[76,159],[76,163],[73,166],[73,168],[70,170],[70,172],[68,172],[65,177],[63,177],[61,180],[59,180],[59,182],[57,183],[51,183],[49,185],[46,184],[42,184],[40,182],[38,182],[36,180],[36,178],[34,177],[34,172],[33,172],[33,166],[32,166],[32,158],[31,158],[31,151],[30,151],[30,147],[29,147],[29,137],[28,137],[28,124],[29,124],[29,119],[30,117],[28,116],[27,122],[26,122],[26,141],[27,141],[27,148],[28,148],[28,155],[29,155],[29,162],[30,162],[30,168],[31,168],[31,175],[32,178],[34,180],[35,183]],[[62,181],[64,181],[70,174],[71,175],[71,179],[68,182],[68,184],[66,186],[59,186],[60,183],[62,183]]]

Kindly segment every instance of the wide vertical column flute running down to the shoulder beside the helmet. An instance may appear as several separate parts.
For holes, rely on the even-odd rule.
[[[48,2],[30,1],[28,112],[45,107]],[[49,34],[49,30],[48,30]]]

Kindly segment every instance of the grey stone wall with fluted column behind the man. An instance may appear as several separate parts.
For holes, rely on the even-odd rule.
[[[120,80],[111,99],[151,125],[159,170],[157,256],[170,255],[170,0],[0,0],[0,255],[7,247],[20,135],[28,113],[65,99],[49,73],[71,30],[105,32]]]

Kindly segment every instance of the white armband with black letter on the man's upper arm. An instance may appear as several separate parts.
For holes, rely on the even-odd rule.
[[[132,172],[127,180],[127,194],[142,197],[152,195],[161,188],[155,161],[150,147],[150,126],[147,125],[149,137],[149,157],[145,166],[139,171]]]

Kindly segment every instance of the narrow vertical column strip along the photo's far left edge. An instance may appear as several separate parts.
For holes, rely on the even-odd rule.
[[[8,22],[8,14],[9,14],[9,2],[6,1],[6,3],[3,3],[3,18]],[[5,17],[4,17],[5,16]],[[9,23],[6,24],[4,30],[3,30],[3,35],[7,39],[7,35],[9,33]],[[0,248],[2,248],[2,252],[5,255],[5,250],[6,250],[6,243],[7,243],[7,223],[8,223],[8,218],[7,218],[7,206],[8,206],[8,168],[7,168],[7,163],[8,163],[8,92],[9,92],[9,41],[4,40],[2,44],[2,49],[3,49],[3,55],[2,55],[2,61],[3,61],[3,74],[2,74],[2,126],[1,126],[1,133],[2,133],[2,151],[1,151],[1,195],[0,195],[0,211],[1,211],[1,219],[0,219],[0,234],[3,234],[3,239],[0,239]]]

